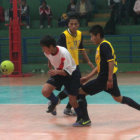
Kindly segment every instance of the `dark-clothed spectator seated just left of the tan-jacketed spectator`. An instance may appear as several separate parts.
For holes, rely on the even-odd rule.
[[[76,2],[75,2],[75,0],[70,0],[70,3],[67,6],[66,12],[67,12],[68,16],[76,13]]]

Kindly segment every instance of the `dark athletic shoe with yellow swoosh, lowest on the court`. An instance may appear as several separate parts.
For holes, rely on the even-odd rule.
[[[81,119],[78,122],[76,121],[72,126],[74,126],[74,127],[91,126],[91,121],[90,120],[84,121],[83,119]]]

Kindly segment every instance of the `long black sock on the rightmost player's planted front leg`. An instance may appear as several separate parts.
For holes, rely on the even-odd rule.
[[[78,104],[83,112],[83,120],[85,120],[85,121],[90,120],[89,115],[88,115],[87,101],[86,101],[85,95],[78,95],[78,96],[79,96]]]

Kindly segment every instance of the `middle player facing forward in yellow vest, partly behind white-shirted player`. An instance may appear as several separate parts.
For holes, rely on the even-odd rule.
[[[66,47],[70,52],[72,58],[74,59],[77,69],[79,69],[79,51],[82,53],[84,59],[88,65],[93,69],[94,65],[90,61],[87,53],[83,47],[83,37],[82,32],[78,30],[79,20],[76,16],[71,16],[68,19],[68,29],[65,30],[59,37],[57,42],[58,45]],[[59,99],[62,100],[67,97],[67,91],[64,89],[58,95]],[[53,112],[55,114],[55,112]],[[71,105],[68,103],[64,109],[64,114],[74,115],[71,110]]]

